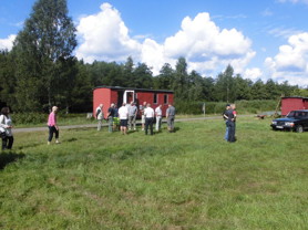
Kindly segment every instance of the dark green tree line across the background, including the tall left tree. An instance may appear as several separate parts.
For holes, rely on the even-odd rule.
[[[66,112],[92,111],[96,86],[172,90],[175,102],[235,102],[277,100],[280,95],[308,96],[308,90],[244,79],[228,65],[217,76],[187,71],[181,56],[175,67],[165,63],[153,75],[145,63],[94,61],[84,63],[73,55],[76,29],[68,15],[66,0],[38,0],[11,51],[0,51],[0,103],[16,112],[47,112],[58,105]]]

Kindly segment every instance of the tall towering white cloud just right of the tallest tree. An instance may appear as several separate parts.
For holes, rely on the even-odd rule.
[[[141,44],[130,38],[120,12],[109,3],[103,3],[97,14],[81,18],[76,29],[81,38],[76,56],[85,62],[123,61],[141,51]]]

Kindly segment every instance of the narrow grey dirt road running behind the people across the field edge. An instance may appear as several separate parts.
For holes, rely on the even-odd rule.
[[[244,117],[244,116],[254,116],[254,115],[240,115],[239,117]],[[203,121],[203,119],[222,119],[222,116],[211,116],[211,117],[194,117],[194,118],[177,118],[175,119],[175,122],[189,122],[189,121]],[[163,119],[163,123],[166,123],[166,119]],[[136,123],[137,125],[141,124],[141,122],[138,121]],[[103,127],[106,127],[107,124],[104,123],[102,125]],[[59,126],[60,129],[73,129],[73,128],[95,128],[97,127],[96,124],[85,124],[85,125],[63,125],[63,126]],[[40,130],[45,130],[48,132],[48,127],[30,127],[30,128],[14,128],[13,133],[29,133],[29,132],[40,132]]]

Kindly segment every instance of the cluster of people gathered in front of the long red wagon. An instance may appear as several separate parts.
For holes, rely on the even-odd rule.
[[[140,109],[141,113],[141,124],[142,130],[145,132],[145,135],[154,134],[153,125],[155,125],[155,130],[160,132],[162,128],[162,105],[158,105],[155,111],[151,107],[150,103],[144,102]],[[102,128],[102,121],[106,119],[109,123],[109,132],[112,133],[116,128],[117,117],[120,119],[120,130],[122,134],[126,135],[129,130],[136,130],[136,117],[138,114],[138,108],[135,102],[131,102],[129,105],[123,103],[122,106],[116,109],[115,104],[112,103],[107,109],[107,115],[103,114],[103,104],[100,104],[96,108],[95,117],[99,121],[97,130]],[[168,104],[168,108],[166,109],[166,118],[167,118],[167,128],[168,132],[174,132],[174,117],[175,117],[175,107],[172,104]]]

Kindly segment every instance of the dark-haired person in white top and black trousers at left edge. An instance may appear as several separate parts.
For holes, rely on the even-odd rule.
[[[2,138],[2,150],[12,149],[14,137],[12,133],[12,118],[10,116],[10,108],[2,107],[0,116],[0,134]]]

